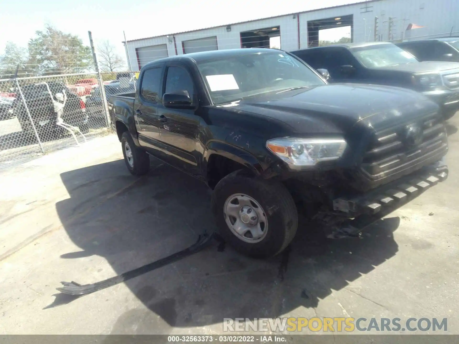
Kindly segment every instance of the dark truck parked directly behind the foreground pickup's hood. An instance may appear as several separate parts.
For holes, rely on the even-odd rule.
[[[445,119],[459,110],[457,62],[420,62],[408,51],[388,42],[336,44],[291,53],[315,69],[326,70],[330,82],[413,89],[440,105]]]

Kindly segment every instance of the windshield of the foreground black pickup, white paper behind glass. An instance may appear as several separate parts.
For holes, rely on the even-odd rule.
[[[325,83],[309,67],[281,51],[198,61],[197,65],[214,104]]]

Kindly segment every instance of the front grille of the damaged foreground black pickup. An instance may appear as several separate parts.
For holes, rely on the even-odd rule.
[[[431,115],[376,133],[361,169],[370,180],[381,180],[416,165],[420,168],[425,161],[439,159],[447,149],[442,118]]]

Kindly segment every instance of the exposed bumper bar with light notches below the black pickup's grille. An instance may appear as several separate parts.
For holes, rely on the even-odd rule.
[[[425,190],[448,178],[444,158],[435,164],[382,185],[367,193],[333,200],[335,215],[348,218],[340,226],[329,226],[329,238],[356,236],[362,229],[413,200]]]

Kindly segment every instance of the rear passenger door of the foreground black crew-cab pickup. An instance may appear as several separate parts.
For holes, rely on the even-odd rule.
[[[140,90],[134,102],[134,119],[140,145],[157,155],[160,141],[158,97],[161,93],[163,66],[154,66],[143,71]]]

